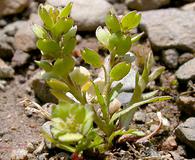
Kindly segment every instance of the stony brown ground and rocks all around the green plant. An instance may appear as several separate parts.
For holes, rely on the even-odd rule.
[[[97,26],[104,25],[110,9],[118,15],[139,10],[142,21],[135,32],[144,37],[132,51],[141,66],[148,51],[153,51],[156,66],[166,71],[150,84],[148,90],[159,89],[161,95],[174,100],[142,107],[134,116],[132,127],[147,134],[158,127],[156,112],[162,112],[166,127],[142,147],[128,145],[109,151],[110,159],[195,159],[195,0],[73,0],[71,17],[78,25],[78,45],[74,55],[80,60],[80,49],[89,47],[107,53],[95,39]],[[51,109],[56,99],[40,78],[34,60],[40,59],[31,26],[41,25],[37,15],[39,3],[66,5],[65,0],[1,0],[0,1],[0,159],[55,160],[69,155],[53,149],[40,135],[47,128],[45,119],[26,111],[21,101],[26,97]],[[105,61],[106,63],[106,61]],[[155,66],[154,66],[155,68]],[[97,71],[98,72],[98,71]],[[134,88],[134,71],[123,79],[124,92],[119,99],[126,103]],[[97,158],[95,158],[97,159]]]

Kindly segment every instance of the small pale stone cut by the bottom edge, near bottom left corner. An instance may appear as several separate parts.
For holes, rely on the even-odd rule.
[[[28,151],[25,149],[16,149],[11,153],[11,160],[27,160]]]

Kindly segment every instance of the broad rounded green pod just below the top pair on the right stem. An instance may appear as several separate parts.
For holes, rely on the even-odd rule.
[[[119,56],[125,55],[131,48],[131,37],[122,33],[113,33],[109,39],[109,49]]]

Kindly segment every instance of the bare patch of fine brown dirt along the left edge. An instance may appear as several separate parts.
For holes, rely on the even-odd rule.
[[[41,119],[29,118],[20,102],[29,95],[29,85],[22,75],[15,75],[5,91],[0,91],[0,159],[9,160],[15,149],[25,149],[29,142],[41,140]]]

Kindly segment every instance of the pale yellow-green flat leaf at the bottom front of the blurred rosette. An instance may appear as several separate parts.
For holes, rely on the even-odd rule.
[[[80,133],[66,133],[66,134],[58,137],[58,139],[61,142],[66,142],[66,143],[78,142],[82,138],[83,138],[83,135]]]

